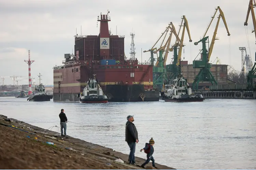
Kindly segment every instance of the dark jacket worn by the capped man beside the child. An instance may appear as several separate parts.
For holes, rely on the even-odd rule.
[[[131,143],[131,142],[136,142],[136,139],[138,139],[137,129],[132,122],[127,121],[126,127],[125,127],[125,141],[127,141],[128,143]]]

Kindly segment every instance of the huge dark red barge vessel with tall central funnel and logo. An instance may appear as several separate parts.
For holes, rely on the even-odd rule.
[[[79,101],[87,81],[96,74],[104,94],[113,102],[158,101],[153,89],[153,66],[126,60],[124,36],[109,31],[107,15],[98,16],[99,35],[76,35],[75,55],[65,54],[62,66],[54,67],[54,101]]]

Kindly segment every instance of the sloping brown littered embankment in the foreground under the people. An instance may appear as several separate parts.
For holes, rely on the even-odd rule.
[[[127,148],[128,149],[128,148]],[[0,169],[142,169],[128,155],[0,115]],[[137,165],[145,159],[136,157]],[[174,169],[156,164],[159,169]],[[152,163],[146,169],[152,168]]]

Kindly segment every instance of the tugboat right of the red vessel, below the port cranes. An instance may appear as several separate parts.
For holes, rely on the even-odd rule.
[[[165,102],[202,102],[204,98],[201,94],[192,95],[192,90],[187,83],[187,79],[182,76],[181,71],[173,80],[173,84],[165,85],[165,92],[161,94]]]

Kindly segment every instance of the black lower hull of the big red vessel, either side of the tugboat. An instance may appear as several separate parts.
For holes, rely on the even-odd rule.
[[[102,86],[109,102],[142,102],[159,101],[159,91],[145,91],[144,85],[106,85]],[[54,93],[53,101],[75,102],[80,101],[77,94]]]

